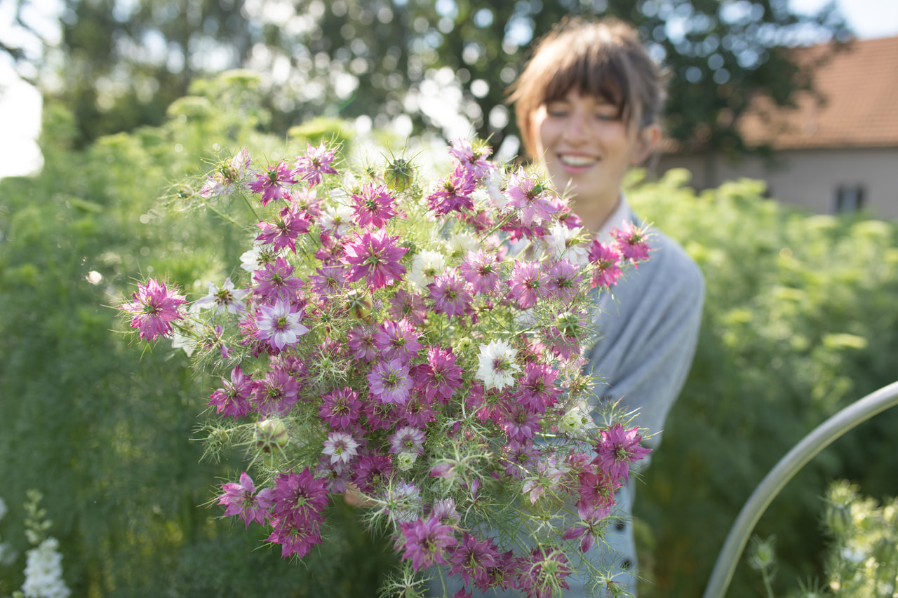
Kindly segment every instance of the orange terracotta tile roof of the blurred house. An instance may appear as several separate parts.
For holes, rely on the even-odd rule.
[[[798,59],[824,47],[797,50]],[[817,101],[807,92],[797,108],[757,98],[739,125],[749,145],[777,149],[898,146],[898,37],[855,40],[814,72]]]

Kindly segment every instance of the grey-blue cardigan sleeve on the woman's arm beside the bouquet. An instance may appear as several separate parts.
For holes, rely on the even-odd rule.
[[[599,299],[599,339],[587,354],[600,404],[638,410],[655,447],[667,412],[682,390],[695,354],[704,279],[689,255],[656,232],[652,257]]]

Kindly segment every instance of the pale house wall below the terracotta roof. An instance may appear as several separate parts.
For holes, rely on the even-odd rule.
[[[835,213],[838,189],[859,186],[865,211],[878,218],[898,218],[898,147],[780,150],[775,161],[770,167],[759,158],[728,163],[720,156],[667,154],[656,170],[685,168],[699,189],[745,177],[765,180],[771,198],[818,214]]]

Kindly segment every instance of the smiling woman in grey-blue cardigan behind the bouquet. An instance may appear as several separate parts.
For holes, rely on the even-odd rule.
[[[527,154],[541,163],[559,193],[572,198],[588,231],[601,237],[624,221],[638,223],[621,182],[656,147],[665,89],[637,31],[608,20],[560,23],[536,46],[511,100]],[[653,433],[643,444],[654,448],[689,372],[704,283],[698,266],[672,239],[653,230],[651,245],[648,261],[621,279],[613,298],[597,297],[602,338],[586,357],[589,372],[602,381],[594,407],[620,400],[623,409],[638,410],[636,424]],[[612,550],[590,554],[598,567],[612,567],[607,595],[636,594],[629,523],[633,479],[617,496],[621,519],[607,536]],[[574,577],[566,596],[595,595],[588,580]]]

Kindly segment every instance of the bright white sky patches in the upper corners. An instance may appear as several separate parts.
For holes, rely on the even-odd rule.
[[[789,0],[796,13],[814,13],[829,0]],[[898,0],[836,0],[861,40],[898,35]],[[10,6],[0,0],[0,7]],[[8,27],[0,13],[0,35]],[[10,66],[0,64],[0,178],[40,170],[35,143],[40,134],[40,93],[17,80]]]

